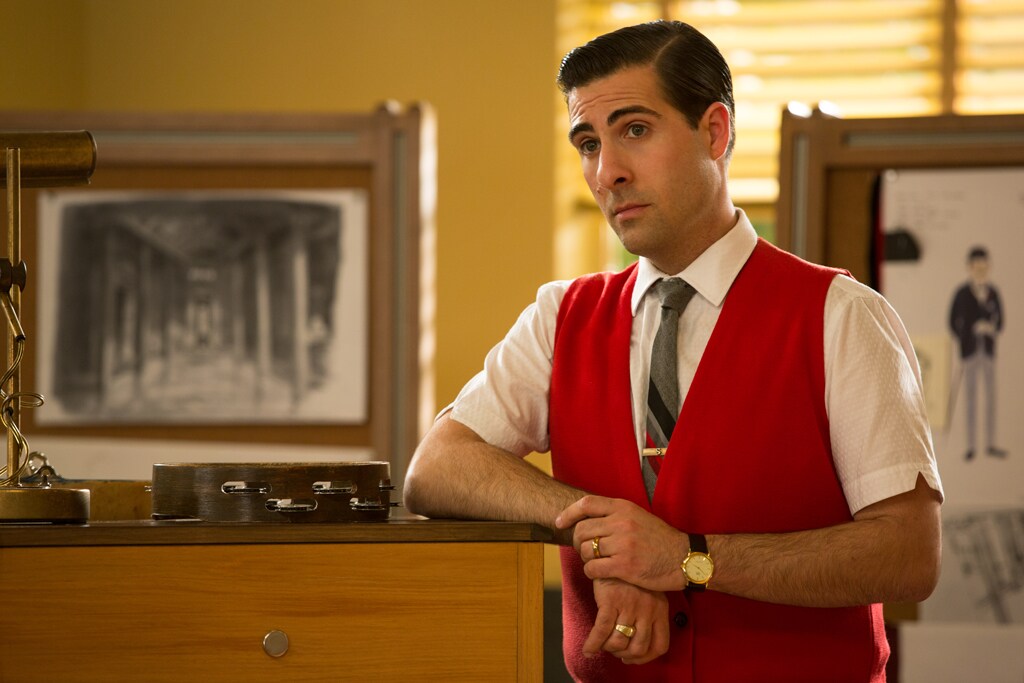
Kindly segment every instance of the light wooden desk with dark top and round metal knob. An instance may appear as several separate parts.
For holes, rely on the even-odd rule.
[[[547,540],[442,520],[0,525],[0,681],[540,683]]]

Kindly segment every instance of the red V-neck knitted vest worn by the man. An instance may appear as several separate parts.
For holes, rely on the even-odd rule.
[[[836,270],[759,241],[726,298],[648,505],[629,376],[635,266],[577,281],[558,316],[551,383],[555,476],[652,509],[684,531],[782,532],[851,519],[824,409],[824,297]],[[714,589],[669,594],[669,652],[627,667],[580,651],[593,589],[562,549],[564,649],[582,681],[885,680],[882,606],[774,605]],[[682,624],[682,626],[680,626]]]

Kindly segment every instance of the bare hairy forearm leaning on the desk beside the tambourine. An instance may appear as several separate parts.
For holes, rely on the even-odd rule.
[[[406,477],[406,507],[428,517],[525,521],[554,518],[584,495],[480,439],[444,415],[417,449]],[[570,543],[560,535],[559,542]]]

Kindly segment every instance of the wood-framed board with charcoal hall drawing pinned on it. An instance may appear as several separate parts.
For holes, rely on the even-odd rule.
[[[30,438],[195,462],[349,450],[403,478],[434,414],[429,106],[0,129],[96,145],[87,186],[22,191],[22,386],[46,398],[22,411]]]

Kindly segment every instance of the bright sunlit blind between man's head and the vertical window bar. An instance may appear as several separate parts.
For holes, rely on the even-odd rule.
[[[739,202],[778,194],[782,109],[830,102],[844,117],[941,112],[942,0],[694,0],[669,5],[733,72]]]

